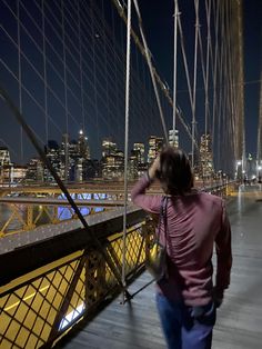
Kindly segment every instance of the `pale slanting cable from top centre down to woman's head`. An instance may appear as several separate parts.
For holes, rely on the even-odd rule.
[[[164,139],[165,139],[165,143],[168,144],[169,137],[168,137],[167,126],[165,126],[165,122],[164,122],[163,110],[162,110],[161,102],[160,102],[158,87],[157,87],[157,82],[155,82],[155,78],[154,78],[153,67],[152,67],[152,62],[151,62],[151,54],[149,52],[148,43],[147,43],[147,40],[145,40],[145,37],[144,37],[144,32],[143,32],[143,28],[142,28],[142,19],[141,19],[138,1],[133,0],[133,2],[134,2],[135,11],[138,13],[139,30],[140,30],[140,34],[141,34],[142,41],[143,41],[145,57],[147,57],[147,61],[148,61],[148,64],[149,64],[149,71],[150,71],[150,76],[151,76],[152,83],[153,83],[153,89],[154,89],[154,93],[155,93],[155,98],[157,98],[157,103],[158,103],[158,107],[159,107],[160,118],[161,118],[161,121],[162,121],[162,127],[163,127],[163,132],[164,132]]]

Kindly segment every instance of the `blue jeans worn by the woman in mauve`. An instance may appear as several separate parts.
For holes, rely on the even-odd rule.
[[[192,308],[157,293],[157,307],[169,349],[211,348],[216,315],[213,302],[203,309]]]

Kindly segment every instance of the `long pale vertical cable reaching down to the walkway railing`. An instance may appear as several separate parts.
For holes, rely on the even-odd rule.
[[[128,0],[127,27],[127,68],[125,68],[125,128],[124,128],[124,212],[123,212],[123,256],[122,285],[125,287],[125,240],[127,240],[127,209],[128,209],[128,154],[129,154],[129,96],[130,96],[130,40],[131,39],[131,0]],[[123,301],[124,301],[123,292]]]

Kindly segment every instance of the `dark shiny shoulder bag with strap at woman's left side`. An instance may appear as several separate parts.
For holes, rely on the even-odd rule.
[[[149,251],[149,257],[145,261],[148,271],[153,278],[159,281],[167,276],[167,202],[168,198],[163,197],[160,209],[158,230],[154,237],[152,248]],[[164,223],[164,246],[160,243],[160,227],[161,221]]]

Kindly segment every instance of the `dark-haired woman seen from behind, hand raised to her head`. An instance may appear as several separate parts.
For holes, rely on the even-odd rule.
[[[225,206],[221,198],[193,189],[190,162],[179,149],[164,149],[131,193],[135,205],[159,215],[162,196],[145,195],[155,179],[168,196],[167,228],[160,222],[160,241],[167,242],[168,272],[157,282],[157,307],[168,347],[209,349],[215,308],[229,287],[232,266]],[[211,261],[214,245],[215,287]]]

